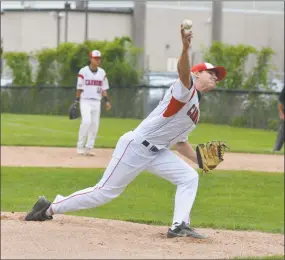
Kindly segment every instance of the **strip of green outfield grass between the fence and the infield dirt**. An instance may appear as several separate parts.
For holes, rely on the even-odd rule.
[[[115,147],[119,137],[134,129],[141,120],[102,118],[96,147]],[[74,147],[80,119],[67,116],[1,115],[1,144],[21,146]],[[233,152],[271,153],[276,132],[236,128],[225,125],[199,124],[189,137],[192,144],[225,140]],[[280,153],[284,152],[284,148]]]

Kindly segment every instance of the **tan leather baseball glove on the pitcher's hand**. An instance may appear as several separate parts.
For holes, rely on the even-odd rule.
[[[198,144],[196,154],[199,168],[206,173],[215,169],[224,160],[226,149],[229,149],[229,147],[223,141],[210,141],[205,144]]]

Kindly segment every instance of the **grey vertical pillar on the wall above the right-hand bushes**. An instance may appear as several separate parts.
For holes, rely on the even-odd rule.
[[[222,40],[223,3],[212,1],[212,42]]]

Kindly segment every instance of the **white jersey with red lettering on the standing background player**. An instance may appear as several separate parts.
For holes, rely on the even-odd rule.
[[[109,89],[106,72],[98,67],[96,72],[91,71],[89,66],[80,69],[77,78],[77,89],[82,89],[81,98],[102,99],[102,91]]]

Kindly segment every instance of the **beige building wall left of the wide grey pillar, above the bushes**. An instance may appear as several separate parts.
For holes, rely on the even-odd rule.
[[[131,37],[131,14],[89,13],[90,40],[113,40]],[[68,41],[82,42],[85,35],[84,12],[69,12]],[[65,21],[61,19],[61,42],[64,41]],[[1,37],[4,51],[34,51],[57,45],[57,21],[50,11],[9,11],[1,15]]]

